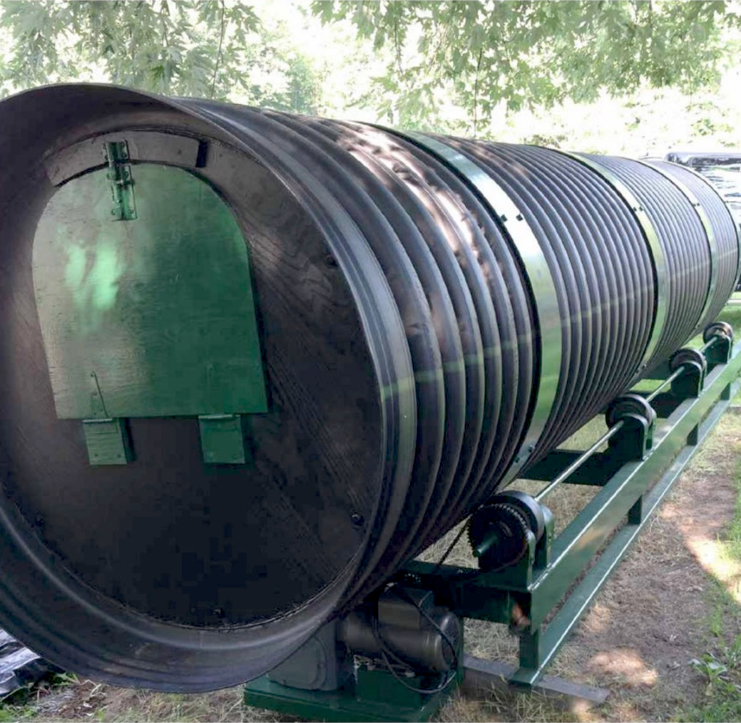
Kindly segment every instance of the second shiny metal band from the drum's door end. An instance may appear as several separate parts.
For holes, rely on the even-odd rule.
[[[651,262],[654,265],[654,274],[656,276],[656,304],[654,306],[654,324],[651,327],[651,336],[648,338],[648,344],[646,344],[643,358],[638,367],[638,371],[641,372],[648,365],[651,356],[656,351],[659,339],[661,339],[668,307],[668,275],[659,236],[656,233],[654,224],[651,223],[651,219],[648,218],[648,214],[642,208],[633,192],[611,170],[597,163],[597,161],[582,156],[581,153],[569,153],[565,150],[556,150],[556,153],[562,153],[562,155],[568,156],[574,159],[574,161],[579,161],[579,163],[584,164],[591,168],[591,170],[594,170],[595,173],[598,173],[599,176],[602,176],[617,191],[618,195],[622,196],[623,201],[628,204],[628,207],[630,207],[641,227],[643,238],[648,245],[648,251],[651,254]]]

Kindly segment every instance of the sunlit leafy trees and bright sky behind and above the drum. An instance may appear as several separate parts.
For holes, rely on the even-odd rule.
[[[0,1],[0,94],[104,81],[594,150],[616,122],[639,152],[735,144],[740,26],[735,1]]]

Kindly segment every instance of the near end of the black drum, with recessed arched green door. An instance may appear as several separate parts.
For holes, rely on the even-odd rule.
[[[3,189],[0,602],[53,662],[207,690],[273,667],[341,598],[382,495],[383,414],[302,205],[152,115],[42,139]]]

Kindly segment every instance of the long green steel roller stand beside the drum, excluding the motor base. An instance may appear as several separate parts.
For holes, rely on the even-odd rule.
[[[723,350],[724,344],[728,342],[719,339],[708,347],[708,371],[701,389],[693,383],[672,383],[670,393],[651,400],[658,414],[653,439],[651,430],[644,430],[641,439],[638,425],[626,424],[610,440],[608,451],[595,453],[565,479],[602,489],[558,536],[554,537],[551,524],[540,542],[531,539],[530,553],[518,565],[471,579],[470,568],[443,565],[435,569],[432,563],[414,561],[399,579],[434,590],[439,604],[450,605],[459,616],[519,627],[520,667],[511,682],[526,687],[536,684],[728,407],[739,385],[741,344]],[[631,452],[631,447],[638,453]],[[556,450],[527,476],[553,479],[581,455]],[[596,557],[597,562],[565,597]],[[559,604],[558,613],[546,626],[545,619]]]

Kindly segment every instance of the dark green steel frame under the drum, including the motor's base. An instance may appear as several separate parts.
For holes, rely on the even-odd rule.
[[[513,567],[486,573],[413,561],[394,579],[433,590],[437,604],[459,616],[516,628],[519,669],[510,682],[536,685],[740,384],[741,343],[731,348],[727,336],[713,336],[700,355],[706,366],[685,362],[671,374],[667,370],[656,390],[640,393],[656,411],[655,421],[628,413],[600,440],[608,442],[608,450],[597,451],[599,444],[585,453],[556,450],[528,470],[529,479],[552,481],[536,499],[550,492],[553,482],[601,487],[562,533],[554,534],[545,508],[544,535],[536,541],[530,534],[528,554]],[[247,684],[245,699],[326,720],[422,720],[442,704],[440,695],[411,700],[397,690],[401,686],[391,674],[371,672],[382,680],[377,687],[365,690],[361,682],[368,671],[362,669],[354,685],[327,693],[292,690],[264,677]]]

